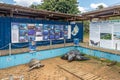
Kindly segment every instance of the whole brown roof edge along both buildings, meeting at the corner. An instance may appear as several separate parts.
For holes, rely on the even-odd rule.
[[[0,16],[27,17],[34,19],[61,20],[61,21],[83,21],[93,18],[109,18],[120,16],[120,5],[89,11],[80,15],[71,15],[47,10],[37,10],[18,5],[0,3]]]

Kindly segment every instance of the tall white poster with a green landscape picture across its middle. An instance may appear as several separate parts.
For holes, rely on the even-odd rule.
[[[100,24],[100,47],[103,48],[113,48],[112,44],[112,31],[113,31],[113,25],[108,22],[101,22]]]

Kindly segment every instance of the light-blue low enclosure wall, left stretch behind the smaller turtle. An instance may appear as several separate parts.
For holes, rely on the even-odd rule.
[[[25,64],[28,63],[33,58],[43,60],[43,59],[60,56],[69,52],[72,49],[74,49],[74,47],[58,48],[58,49],[39,51],[35,53],[16,54],[11,56],[1,56],[0,69],[16,66],[20,64]]]

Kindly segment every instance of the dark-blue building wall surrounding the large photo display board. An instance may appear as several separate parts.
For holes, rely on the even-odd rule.
[[[11,18],[11,17],[0,17],[0,49],[1,47],[6,46],[7,44],[11,43],[11,23],[42,23],[42,24],[57,24],[57,25],[71,25],[70,22],[62,22],[62,21],[52,21],[52,20],[35,20],[35,19],[28,19],[28,18]],[[79,38],[80,41],[83,41],[83,23],[76,23],[79,27],[79,33],[76,36],[71,36],[71,39],[67,39],[66,42],[70,43],[73,42],[74,38]],[[73,30],[75,25],[71,25]],[[53,44],[61,44],[64,40],[53,40]],[[26,43],[15,43],[14,45],[24,47],[27,45]],[[49,45],[50,41],[37,41],[37,45]],[[12,45],[12,48],[18,48]],[[8,46],[3,48],[8,49]]]

